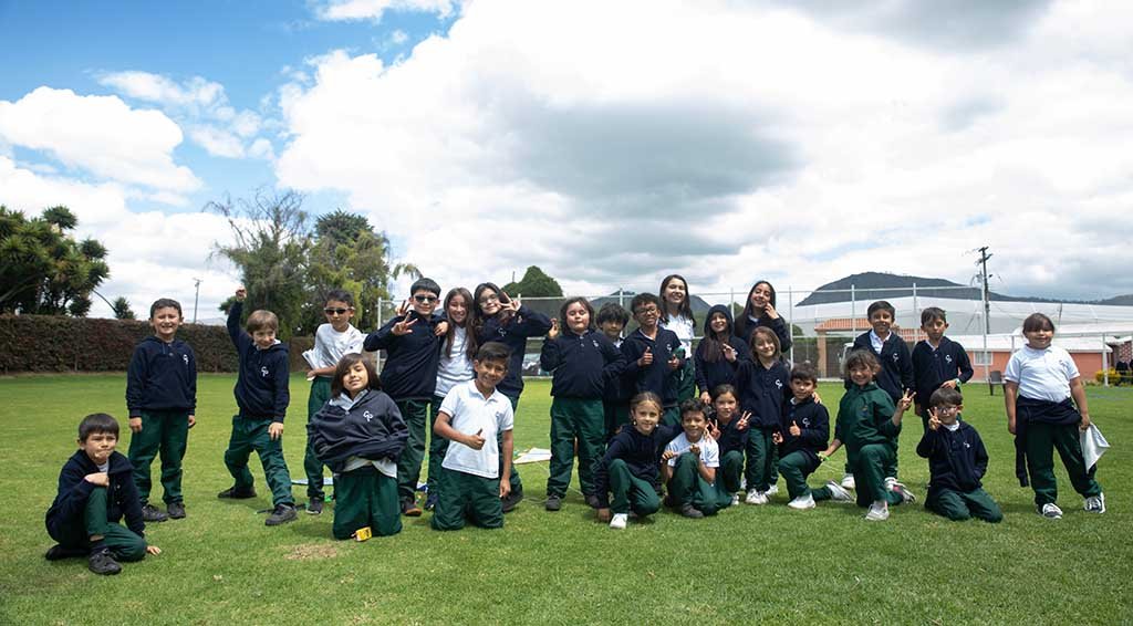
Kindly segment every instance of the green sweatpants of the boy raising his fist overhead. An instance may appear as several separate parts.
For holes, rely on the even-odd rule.
[[[232,436],[224,451],[224,465],[236,479],[233,487],[238,491],[250,490],[254,481],[248,471],[248,457],[255,451],[264,466],[264,479],[272,490],[272,505],[295,505],[295,498],[291,497],[291,474],[283,460],[283,438],[272,440],[267,435],[271,423],[271,418],[232,415]]]

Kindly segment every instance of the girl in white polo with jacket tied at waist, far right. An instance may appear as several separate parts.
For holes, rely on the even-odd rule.
[[[1097,465],[1087,469],[1079,440],[1079,430],[1090,428],[1090,410],[1077,367],[1068,352],[1050,345],[1055,325],[1049,317],[1031,314],[1023,320],[1023,336],[1026,345],[1011,355],[1003,372],[1007,430],[1015,436],[1015,474],[1023,487],[1030,474],[1039,515],[1060,520],[1062,509],[1055,504],[1057,448],[1071,484],[1085,498],[1085,511],[1105,513],[1106,495],[1093,479]]]

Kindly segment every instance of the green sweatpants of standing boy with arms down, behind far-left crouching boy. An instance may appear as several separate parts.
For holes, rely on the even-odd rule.
[[[181,460],[189,438],[188,411],[142,411],[142,431],[130,435],[128,453],[134,465],[134,483],[138,487],[142,504],[150,501],[153,481],[150,464],[161,454],[162,500],[179,503],[181,495]]]

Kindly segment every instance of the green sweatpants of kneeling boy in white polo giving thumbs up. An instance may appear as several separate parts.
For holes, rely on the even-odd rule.
[[[503,528],[499,478],[484,478],[441,468],[436,494],[433,530],[460,530],[465,528],[466,520],[482,529]]]

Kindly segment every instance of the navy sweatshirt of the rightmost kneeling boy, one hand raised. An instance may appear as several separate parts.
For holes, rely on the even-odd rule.
[[[929,491],[973,491],[988,471],[988,451],[980,434],[968,422],[957,423],[955,432],[944,426],[926,430],[917,444],[917,454],[928,458]]]

